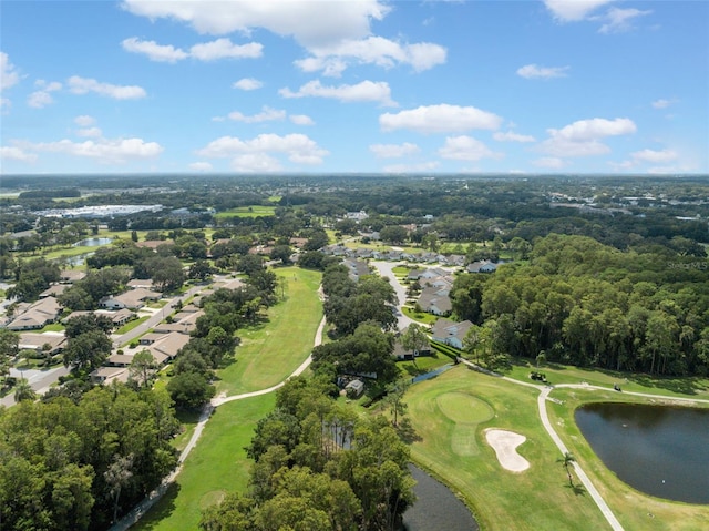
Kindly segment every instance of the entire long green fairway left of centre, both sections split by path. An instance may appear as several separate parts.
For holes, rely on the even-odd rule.
[[[285,300],[269,309],[268,323],[238,331],[243,343],[236,360],[220,369],[218,392],[235,395],[264,389],[282,381],[312,349],[315,333],[322,318],[317,296],[320,274],[286,267],[276,269],[285,283]],[[134,529],[192,531],[197,529],[202,511],[219,501],[228,491],[244,491],[249,461],[246,447],[256,422],[274,407],[275,394],[237,400],[219,406],[183,471],[168,493]],[[196,418],[182,418],[185,433],[176,440],[182,449]]]

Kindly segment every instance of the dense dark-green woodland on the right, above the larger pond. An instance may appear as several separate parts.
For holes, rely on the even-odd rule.
[[[469,346],[614,370],[709,374],[709,268],[664,246],[620,252],[551,234],[530,259],[461,275],[454,310]]]

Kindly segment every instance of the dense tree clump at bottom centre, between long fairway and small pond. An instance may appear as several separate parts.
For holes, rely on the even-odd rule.
[[[202,517],[205,531],[384,531],[413,502],[409,449],[383,417],[361,418],[326,380],[289,380],[261,419],[246,493]]]

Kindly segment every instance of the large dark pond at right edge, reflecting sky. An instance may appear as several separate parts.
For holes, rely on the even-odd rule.
[[[709,409],[593,404],[575,417],[621,481],[658,498],[709,503]]]

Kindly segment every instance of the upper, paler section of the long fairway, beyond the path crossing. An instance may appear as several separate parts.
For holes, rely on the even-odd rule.
[[[271,387],[287,378],[312,350],[322,319],[317,289],[320,273],[275,269],[285,282],[285,300],[268,310],[268,321],[237,331],[242,344],[234,361],[217,371],[217,394],[227,396]]]

